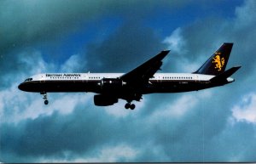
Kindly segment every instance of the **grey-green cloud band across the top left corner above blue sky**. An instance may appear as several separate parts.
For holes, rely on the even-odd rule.
[[[147,4],[147,5],[144,5]],[[80,25],[109,14],[123,15],[126,19],[140,19],[151,8],[168,5],[182,6],[183,2],[166,1],[1,1],[1,52],[29,46],[34,42],[55,41]]]

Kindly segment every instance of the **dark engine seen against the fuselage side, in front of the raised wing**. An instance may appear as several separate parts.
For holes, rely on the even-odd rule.
[[[101,82],[102,90],[114,91],[122,88],[126,83],[118,78],[103,78]]]

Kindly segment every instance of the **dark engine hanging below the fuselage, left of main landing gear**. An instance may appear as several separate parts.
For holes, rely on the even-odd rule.
[[[97,106],[108,106],[117,103],[119,100],[111,96],[97,94],[94,96],[94,104]]]

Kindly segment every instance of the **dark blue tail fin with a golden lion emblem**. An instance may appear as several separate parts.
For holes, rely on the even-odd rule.
[[[233,43],[224,42],[221,47],[207,59],[204,65],[201,65],[200,69],[194,73],[215,76],[223,73],[230,58],[232,47]]]

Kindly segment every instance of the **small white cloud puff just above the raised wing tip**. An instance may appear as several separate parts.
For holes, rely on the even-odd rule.
[[[182,36],[181,28],[177,28],[175,31],[172,31],[170,37],[166,37],[163,41],[168,45],[168,48],[171,49],[173,52],[177,52],[179,54],[183,54],[186,52],[185,50],[185,40]]]

